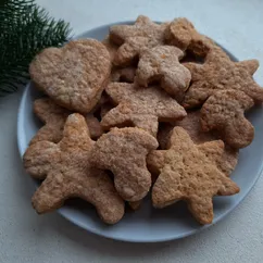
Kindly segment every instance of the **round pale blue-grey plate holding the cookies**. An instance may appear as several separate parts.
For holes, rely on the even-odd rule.
[[[120,24],[130,23],[133,22]],[[110,26],[97,27],[78,36],[78,38],[102,40],[108,35]],[[33,85],[28,84],[18,110],[17,142],[21,156],[25,152],[32,137],[41,126],[41,123],[34,116],[32,109],[33,101],[39,96],[39,92],[34,89]],[[214,198],[214,223],[225,217],[242,201],[255,184],[263,168],[263,109],[253,109],[248,114],[248,118],[255,127],[255,137],[251,146],[240,151],[238,165],[231,175],[231,178],[240,186],[241,191],[233,197]],[[70,202],[61,208],[59,213],[91,233],[132,242],[158,242],[178,239],[209,227],[200,226],[187,211],[184,203],[156,210],[151,206],[150,200],[145,201],[139,211],[126,213],[124,218],[114,226],[101,223],[95,209],[82,202]]]

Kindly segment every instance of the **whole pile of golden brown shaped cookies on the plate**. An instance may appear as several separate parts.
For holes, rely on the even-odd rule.
[[[184,200],[212,223],[212,198],[239,192],[229,176],[253,139],[243,113],[263,101],[258,67],[233,62],[186,18],[139,16],[102,42],[43,50],[29,68],[47,96],[34,103],[45,125],[24,154],[42,180],[33,206],[46,213],[77,197],[115,224],[125,202],[138,209],[151,195],[154,208]]]

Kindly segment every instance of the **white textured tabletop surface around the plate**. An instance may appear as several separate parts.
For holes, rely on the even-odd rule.
[[[138,14],[153,20],[187,16],[238,59],[263,64],[261,0],[38,0],[55,17],[72,23],[74,34]],[[256,79],[263,86],[263,70]],[[16,149],[21,93],[0,99],[0,263],[57,262],[262,262],[263,177],[223,222],[179,241],[134,245],[93,236],[57,213],[37,216],[30,206],[30,180]],[[251,171],[252,173],[252,171]],[[248,175],[249,176],[249,175]]]

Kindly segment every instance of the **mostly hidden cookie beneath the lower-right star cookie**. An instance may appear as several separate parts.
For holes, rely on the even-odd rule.
[[[167,149],[167,142],[170,140],[172,130],[175,126],[183,127],[190,136],[191,140],[196,145],[201,145],[209,141],[214,141],[220,139],[220,136],[215,133],[204,133],[201,128],[200,124],[200,111],[192,111],[188,112],[187,116],[174,124],[161,124],[158,133],[158,141],[162,150]],[[213,151],[208,151],[211,148],[202,148],[200,146],[200,150],[203,150],[205,154],[209,156],[212,155],[213,159]],[[231,172],[235,170],[237,162],[238,162],[238,149],[234,149],[228,145],[225,145],[225,149],[222,155],[217,159],[213,159],[217,168],[222,171],[226,176],[229,176]]]

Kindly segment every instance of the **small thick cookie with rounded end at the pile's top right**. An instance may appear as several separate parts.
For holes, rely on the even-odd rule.
[[[199,34],[192,23],[185,17],[175,18],[166,27],[167,43],[174,45],[183,51],[189,50],[199,57],[205,57],[215,46],[210,38]]]

